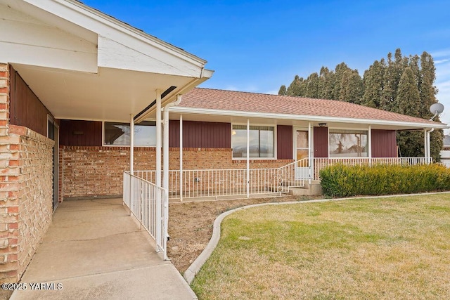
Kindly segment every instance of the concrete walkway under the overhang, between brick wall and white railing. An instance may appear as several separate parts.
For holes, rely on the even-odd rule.
[[[61,203],[21,282],[12,300],[196,299],[122,199]]]

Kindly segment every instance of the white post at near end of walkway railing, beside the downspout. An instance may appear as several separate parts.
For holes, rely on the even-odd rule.
[[[161,91],[156,90],[156,181],[155,184],[161,186]],[[161,241],[162,225],[162,205],[160,193],[156,193],[156,241]],[[163,250],[163,249],[159,249]]]

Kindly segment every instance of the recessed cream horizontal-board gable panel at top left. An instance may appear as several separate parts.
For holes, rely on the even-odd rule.
[[[96,44],[0,4],[0,48],[9,63],[97,72]]]

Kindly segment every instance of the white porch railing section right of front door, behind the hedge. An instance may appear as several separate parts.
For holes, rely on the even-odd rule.
[[[348,166],[363,165],[363,164],[401,164],[402,166],[409,166],[414,164],[427,164],[425,157],[314,157],[314,170],[312,178],[320,180],[319,172],[321,169],[331,166],[333,164],[345,164]]]

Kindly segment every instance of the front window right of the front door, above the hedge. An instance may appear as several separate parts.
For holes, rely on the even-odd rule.
[[[367,131],[330,129],[330,157],[368,157]]]

